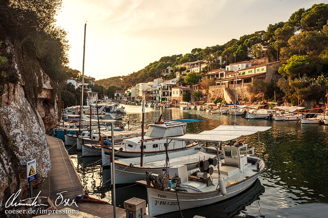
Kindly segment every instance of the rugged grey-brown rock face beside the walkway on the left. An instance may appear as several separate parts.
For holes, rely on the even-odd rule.
[[[13,193],[19,189],[22,189],[23,195],[27,193],[24,192],[28,189],[24,161],[36,159],[37,179],[33,181],[33,186],[47,177],[51,163],[45,130],[58,122],[56,84],[51,82],[37,62],[36,70],[29,71],[28,75],[26,70],[23,73],[22,67],[25,67],[28,57],[18,54],[16,45],[8,41],[3,46],[7,54],[2,50],[2,55],[10,57],[8,59],[12,63],[10,77],[16,79],[3,84],[0,91],[0,211]],[[26,91],[30,81],[37,81],[38,84],[33,88],[36,93],[33,100]]]

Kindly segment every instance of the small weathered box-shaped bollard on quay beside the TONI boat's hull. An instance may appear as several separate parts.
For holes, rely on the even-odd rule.
[[[143,213],[146,213],[146,201],[140,198],[133,197],[124,201],[127,218],[142,218]]]

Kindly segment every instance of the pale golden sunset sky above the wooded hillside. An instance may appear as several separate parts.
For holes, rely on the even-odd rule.
[[[96,80],[125,76],[162,56],[224,44],[287,21],[316,0],[63,0],[57,25],[67,32],[70,67]]]

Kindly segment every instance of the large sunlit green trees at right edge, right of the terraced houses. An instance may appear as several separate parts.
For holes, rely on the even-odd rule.
[[[300,9],[287,22],[276,24],[275,45],[283,66],[278,81],[254,81],[251,91],[264,98],[289,102],[322,100],[328,89],[328,5],[313,5]],[[274,26],[269,26],[270,29]],[[278,36],[278,40],[277,40]]]

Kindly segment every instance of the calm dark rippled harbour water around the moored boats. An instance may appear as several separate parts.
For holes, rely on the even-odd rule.
[[[141,107],[127,107],[141,111]],[[148,109],[150,111],[150,109]],[[160,114],[165,120],[204,119],[187,124],[187,132],[200,132],[222,124],[234,124],[234,116],[211,114],[206,111],[180,108],[154,109],[145,115],[146,123],[154,122]],[[127,115],[140,121],[140,113]],[[264,125],[272,128],[260,134],[261,154],[266,164],[258,181],[233,199],[183,211],[185,218],[205,217],[328,217],[328,126],[246,120],[240,116],[237,125]],[[138,125],[135,125],[136,127]],[[240,138],[257,149],[257,135]],[[69,150],[73,163],[89,195],[111,201],[108,170],[101,169],[99,158],[82,158]],[[258,150],[256,150],[258,153]],[[99,163],[100,162],[100,163]],[[102,182],[105,182],[103,185]],[[117,206],[131,197],[146,199],[146,189],[140,185],[118,186]],[[180,217],[179,212],[159,217]]]

